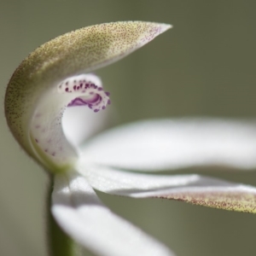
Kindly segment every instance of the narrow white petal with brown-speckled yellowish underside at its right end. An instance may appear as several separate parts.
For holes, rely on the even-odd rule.
[[[82,166],[81,166],[82,168]],[[81,169],[82,170],[82,169]],[[199,175],[160,176],[94,166],[83,172],[102,192],[137,198],[160,197],[238,212],[256,213],[256,188]]]

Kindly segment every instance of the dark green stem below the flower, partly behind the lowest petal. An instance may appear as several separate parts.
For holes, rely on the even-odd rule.
[[[56,224],[53,218],[51,207],[51,194],[53,191],[54,176],[50,176],[49,183],[49,195],[47,202],[47,218],[48,218],[48,242],[49,242],[49,255],[50,256],[78,256],[81,251],[79,245],[77,245],[71,238],[69,238]]]

